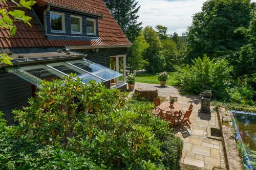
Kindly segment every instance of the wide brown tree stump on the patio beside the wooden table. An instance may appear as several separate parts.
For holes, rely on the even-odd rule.
[[[158,98],[158,92],[156,88],[154,89],[137,88],[135,89],[134,95],[136,95],[137,98],[144,98],[150,102],[153,102],[154,98]]]

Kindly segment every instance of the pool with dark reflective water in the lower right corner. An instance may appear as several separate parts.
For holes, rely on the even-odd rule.
[[[244,163],[247,169],[256,169],[256,113],[230,111],[237,141],[240,141],[244,152]]]

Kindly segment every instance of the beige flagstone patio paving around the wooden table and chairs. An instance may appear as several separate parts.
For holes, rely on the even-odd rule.
[[[158,95],[167,99],[169,96],[177,96],[178,102],[183,104],[182,111],[185,111],[190,103],[194,105],[189,117],[191,129],[176,133],[184,141],[181,163],[198,166],[205,170],[212,170],[213,167],[226,168],[221,141],[206,137],[207,126],[219,128],[216,111],[212,111],[210,115],[199,114],[198,109],[201,104],[198,97],[180,95],[179,90],[172,86],[163,88],[156,84],[136,83],[136,88],[157,88]],[[133,92],[129,95],[132,96]]]

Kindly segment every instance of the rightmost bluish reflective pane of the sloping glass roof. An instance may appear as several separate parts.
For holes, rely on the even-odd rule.
[[[67,63],[73,64],[83,70],[86,70],[90,72],[92,75],[95,75],[101,79],[104,79],[105,81],[109,81],[111,79],[115,79],[117,77],[122,76],[122,74],[120,74],[117,71],[114,71],[102,65],[96,64],[87,59],[68,61]]]

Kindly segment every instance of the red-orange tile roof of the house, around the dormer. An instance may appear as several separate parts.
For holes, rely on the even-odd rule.
[[[81,10],[84,12],[102,15],[99,18],[99,37],[96,39],[83,37],[49,37],[44,36],[44,30],[41,28],[39,21],[35,18],[31,20],[32,27],[24,23],[17,23],[17,31],[14,37],[10,37],[7,29],[0,27],[0,47],[62,47],[68,46],[120,46],[131,45],[126,38],[109,9],[104,4],[103,0],[38,0],[41,4],[52,3],[58,6],[65,6],[72,9]],[[0,1],[0,9],[9,6]],[[31,11],[26,11],[27,16],[33,16]]]

